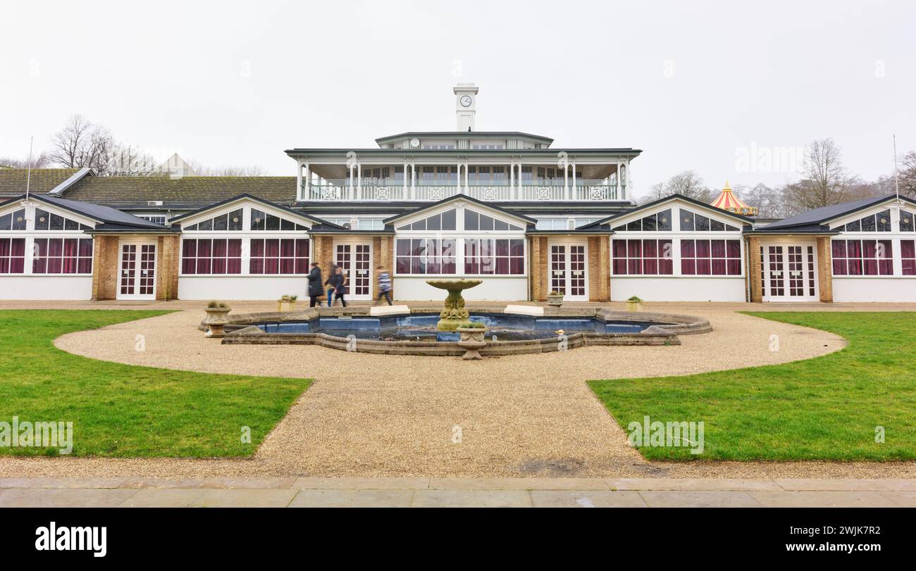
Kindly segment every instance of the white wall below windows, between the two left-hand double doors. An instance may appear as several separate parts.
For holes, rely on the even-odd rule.
[[[180,276],[179,299],[269,299],[277,300],[286,294],[308,299],[309,280],[304,275],[267,277],[256,275]],[[322,285],[323,287],[323,285]]]

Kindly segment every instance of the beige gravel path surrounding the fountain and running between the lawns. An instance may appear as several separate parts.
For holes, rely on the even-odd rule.
[[[709,318],[714,331],[681,346],[588,347],[462,361],[348,353],[313,346],[224,346],[196,329],[200,303],[179,313],[56,341],[62,350],[136,365],[316,379],[249,459],[0,458],[0,476],[145,477],[913,477],[916,463],[647,462],[584,381],[688,374],[806,359],[844,339],[738,309],[872,309],[867,305],[649,304]],[[235,303],[238,311],[273,304]],[[0,307],[16,307],[3,303]],[[22,304],[18,307],[27,307]],[[34,306],[32,306],[34,307]],[[48,307],[42,304],[42,307]],[[62,303],[59,307],[125,307]],[[128,307],[136,307],[128,306]],[[125,307],[126,308],[126,307]],[[472,304],[474,310],[474,304]],[[912,310],[912,307],[906,307]],[[135,336],[146,337],[136,352]],[[770,335],[780,351],[769,350]],[[453,435],[460,430],[460,442]]]

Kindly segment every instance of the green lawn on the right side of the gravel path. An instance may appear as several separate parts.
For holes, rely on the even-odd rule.
[[[646,458],[916,458],[916,313],[748,315],[832,331],[849,345],[783,365],[589,382],[625,431],[645,415],[653,422],[703,421],[703,454],[638,447]],[[877,426],[884,427],[883,444]]]

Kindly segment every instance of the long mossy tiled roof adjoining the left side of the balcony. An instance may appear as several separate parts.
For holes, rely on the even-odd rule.
[[[295,177],[87,177],[68,189],[69,199],[96,204],[166,204],[209,206],[248,194],[277,204],[296,201]]]

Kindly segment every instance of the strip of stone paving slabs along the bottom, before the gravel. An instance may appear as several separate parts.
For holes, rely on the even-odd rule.
[[[0,507],[916,507],[914,479],[0,479]]]

